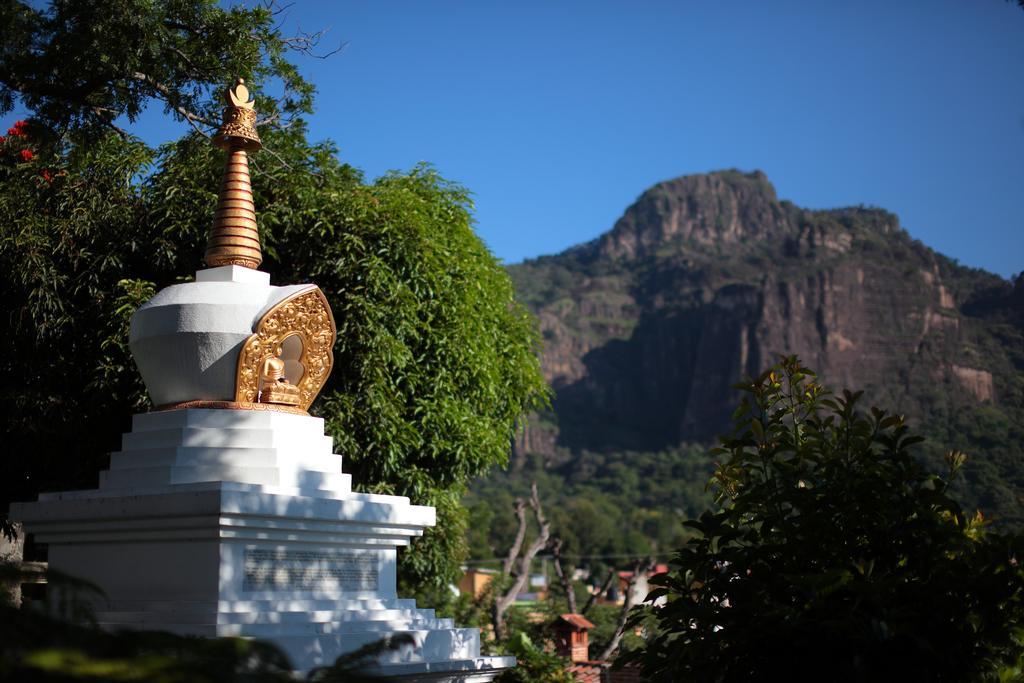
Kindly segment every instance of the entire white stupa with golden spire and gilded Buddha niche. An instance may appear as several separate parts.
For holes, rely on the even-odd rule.
[[[395,591],[397,548],[434,524],[409,499],[353,493],[307,410],[331,372],[335,324],[313,285],[273,287],[261,261],[247,153],[259,148],[242,84],[215,138],[228,152],[206,262],[131,321],[156,410],[136,415],[94,490],[44,494],[11,517],[54,569],[98,585],[106,629],[271,641],[298,672],[395,634],[376,673],[490,681],[457,628]]]

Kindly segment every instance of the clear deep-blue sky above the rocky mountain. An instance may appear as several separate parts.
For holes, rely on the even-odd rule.
[[[597,237],[654,182],[739,168],[1024,269],[1016,1],[298,0],[288,23],[345,43],[299,59],[312,136],[371,177],[431,162],[473,191],[506,262]]]

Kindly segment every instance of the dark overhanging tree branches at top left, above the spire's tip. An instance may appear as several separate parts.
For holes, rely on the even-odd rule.
[[[156,100],[197,130],[215,128],[223,84],[244,77],[282,88],[263,93],[263,122],[286,123],[312,108],[312,86],[287,58],[323,34],[286,37],[272,3],[221,8],[213,0],[60,0],[45,8],[0,3],[0,114],[17,99],[50,132],[100,128],[122,136]],[[111,37],[117,40],[111,40]],[[270,104],[273,104],[270,106]]]

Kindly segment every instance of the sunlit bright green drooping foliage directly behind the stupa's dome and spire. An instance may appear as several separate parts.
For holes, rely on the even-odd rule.
[[[316,283],[338,326],[313,411],[357,486],[438,507],[438,528],[403,553],[401,570],[406,588],[445,595],[465,554],[459,497],[507,462],[520,416],[547,400],[536,325],[473,232],[463,187],[427,165],[364,183],[292,129],[264,142],[308,172],[253,172],[262,267],[275,283]],[[191,137],[161,162],[143,195],[169,268],[187,271],[221,162]]]

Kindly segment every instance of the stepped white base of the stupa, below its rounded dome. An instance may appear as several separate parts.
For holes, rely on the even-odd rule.
[[[397,548],[433,508],[352,493],[317,418],[198,410],[136,416],[96,490],[46,494],[11,516],[54,569],[98,585],[97,621],[271,641],[298,671],[404,633],[380,673],[489,681],[479,632],[395,591]]]

